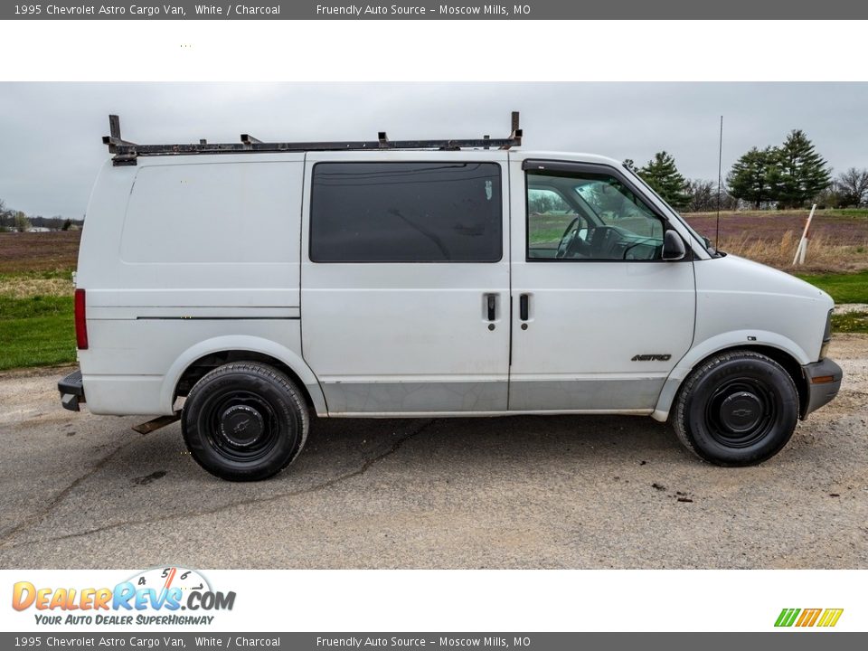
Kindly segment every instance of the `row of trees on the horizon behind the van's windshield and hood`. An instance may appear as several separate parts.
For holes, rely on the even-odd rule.
[[[707,212],[752,207],[801,208],[816,203],[822,208],[868,205],[868,169],[851,167],[833,177],[832,168],[801,129],[793,129],[779,146],[751,147],[718,188],[713,181],[687,179],[678,171],[675,156],[661,151],[637,167],[624,165],[678,210]],[[720,199],[718,193],[720,191]]]

